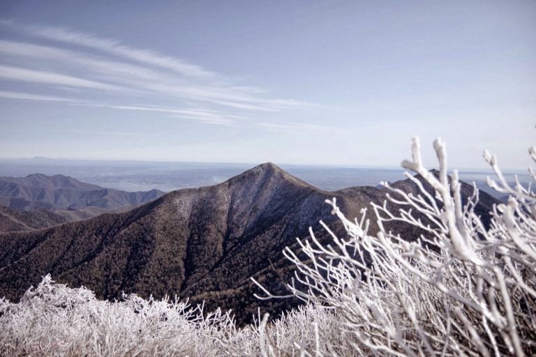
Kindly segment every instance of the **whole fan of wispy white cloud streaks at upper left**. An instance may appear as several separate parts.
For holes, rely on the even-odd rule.
[[[265,89],[239,84],[183,59],[131,47],[119,40],[61,27],[15,22],[0,25],[34,39],[31,43],[0,39],[0,89],[12,89],[9,83],[13,82],[31,85],[25,93],[3,91],[1,98],[159,112],[218,125],[256,121],[262,113],[307,105],[272,98]],[[58,96],[59,89],[77,89],[77,97],[84,101]],[[103,96],[107,98],[105,103]],[[124,102],[144,104],[119,104]],[[164,107],[162,103],[171,105]]]

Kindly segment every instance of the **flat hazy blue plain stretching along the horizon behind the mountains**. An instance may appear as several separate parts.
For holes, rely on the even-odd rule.
[[[279,165],[278,162],[275,163]],[[170,192],[182,188],[216,185],[254,166],[210,162],[0,159],[0,176],[63,174],[105,188],[126,191],[147,191],[156,188]],[[289,174],[327,191],[352,186],[376,186],[380,181],[394,182],[405,179],[404,170],[395,167],[279,166]],[[468,183],[475,181],[479,189],[496,198],[502,197],[486,185],[486,176],[494,178],[491,169],[459,169],[459,173],[463,181]],[[514,174],[522,183],[529,181],[527,172],[505,172],[510,182],[514,181]]]

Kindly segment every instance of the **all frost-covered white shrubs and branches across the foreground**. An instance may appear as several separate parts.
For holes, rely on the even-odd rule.
[[[20,303],[0,301],[1,356],[502,356],[536,354],[536,193],[510,186],[494,156],[489,184],[509,195],[485,225],[475,213],[477,190],[460,193],[447,176],[445,146],[434,143],[440,170],[422,165],[419,142],[403,167],[418,195],[385,187],[391,204],[372,204],[348,220],[328,203],[348,235],[322,245],[300,241],[286,250],[296,266],[288,287],[306,305],[236,328],[229,314],[203,314],[174,301],[98,301],[45,277]],[[536,147],[530,149],[536,161]],[[536,175],[531,170],[533,181]],[[412,178],[412,176],[408,175]],[[433,188],[432,193],[425,185]],[[433,193],[435,192],[435,193]],[[392,209],[398,206],[398,211]],[[418,227],[414,241],[386,227]],[[329,227],[325,226],[329,231]],[[262,288],[262,287],[261,287]],[[264,290],[260,298],[276,298]]]

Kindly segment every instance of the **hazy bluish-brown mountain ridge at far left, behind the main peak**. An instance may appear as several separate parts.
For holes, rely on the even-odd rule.
[[[45,209],[68,220],[91,218],[107,211],[132,208],[164,195],[159,190],[126,192],[102,188],[70,176],[31,174],[0,177],[0,205],[15,211]]]

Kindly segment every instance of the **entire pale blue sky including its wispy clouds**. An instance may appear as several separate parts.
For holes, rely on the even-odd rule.
[[[536,1],[9,1],[0,157],[530,165]]]

